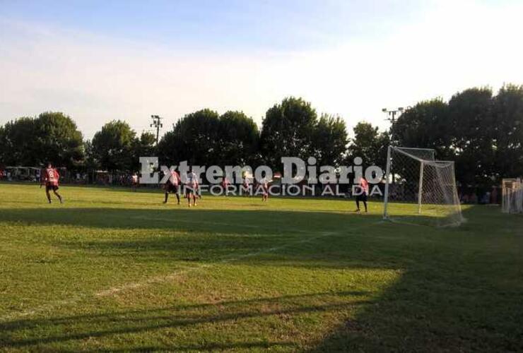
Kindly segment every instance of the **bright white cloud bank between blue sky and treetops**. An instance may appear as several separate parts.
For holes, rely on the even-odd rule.
[[[348,126],[366,119],[384,128],[382,107],[447,99],[474,85],[523,83],[522,12],[517,2],[438,1],[387,35],[245,52],[182,50],[0,20],[0,123],[60,110],[91,137],[111,119],[140,132],[151,114],[170,123],[208,107],[242,110],[260,124],[266,109],[295,95]]]

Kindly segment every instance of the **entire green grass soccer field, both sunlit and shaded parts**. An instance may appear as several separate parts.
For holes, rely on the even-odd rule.
[[[523,350],[523,217],[0,184],[0,349]]]

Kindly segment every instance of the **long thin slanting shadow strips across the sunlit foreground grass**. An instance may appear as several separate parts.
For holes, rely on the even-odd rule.
[[[226,325],[252,319],[289,316],[304,313],[337,311],[348,306],[370,305],[372,301],[360,299],[366,292],[324,292],[301,295],[222,301],[215,304],[191,304],[170,306],[160,309],[139,311],[117,311],[94,315],[69,316],[59,318],[25,319],[0,323],[0,346],[4,348],[23,348],[33,345],[48,345],[112,335],[133,333],[154,333],[168,328],[187,328],[191,326]],[[338,302],[327,302],[326,298],[336,298]],[[49,333],[45,337],[23,337],[27,330],[41,330]],[[60,334],[56,334],[60,332]],[[254,337],[256,339],[256,337]],[[259,340],[259,338],[258,338]],[[265,340],[266,341],[266,340]],[[271,346],[293,346],[293,342],[208,342],[205,345],[175,347],[155,347],[154,349],[231,349]],[[149,347],[153,349],[153,347]],[[126,347],[122,350],[144,349]]]

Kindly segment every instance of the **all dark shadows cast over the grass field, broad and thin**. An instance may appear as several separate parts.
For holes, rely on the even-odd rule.
[[[78,217],[71,212],[78,212]],[[152,251],[155,255],[158,251],[180,249],[180,256],[217,251],[204,259],[196,259],[212,261],[233,249],[247,253],[274,244],[275,235],[281,241],[281,237],[291,240],[321,232],[336,232],[318,239],[314,246],[304,246],[274,258],[259,258],[255,265],[300,263],[315,267],[334,264],[347,270],[398,268],[402,275],[372,301],[365,299],[365,292],[325,292],[10,321],[0,323],[0,346],[8,349],[47,347],[90,337],[133,333],[151,333],[155,337],[156,330],[206,325],[227,330],[220,326],[221,323],[300,313],[339,313],[353,307],[355,315],[347,316],[342,325],[320,342],[307,344],[314,346],[311,352],[521,350],[523,258],[520,250],[523,249],[523,234],[518,229],[523,228],[523,220],[481,206],[469,208],[465,216],[469,221],[457,229],[382,223],[380,227],[362,230],[358,227],[377,222],[380,217],[266,210],[198,210],[194,213],[194,210],[64,209],[34,210],[30,215],[27,210],[6,210],[5,213],[3,210],[0,221],[117,229],[177,229],[189,234],[176,245],[168,239],[88,241],[84,244],[86,249],[114,251],[114,256],[122,250],[134,251],[136,248],[142,252]],[[291,228],[295,228],[294,233]],[[209,232],[213,240],[198,245],[203,242],[197,237],[194,242],[189,241],[191,232]],[[77,246],[74,242],[63,245]],[[257,324],[263,325],[264,322]],[[252,337],[252,341],[257,338]],[[122,350],[269,348],[296,350],[298,346],[292,340],[221,342],[217,338],[204,344],[130,345]]]

